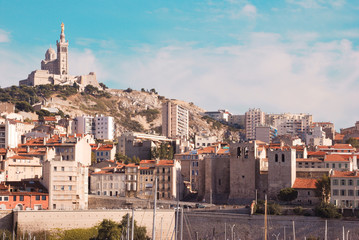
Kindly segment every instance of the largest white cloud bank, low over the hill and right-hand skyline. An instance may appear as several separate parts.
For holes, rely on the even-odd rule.
[[[283,43],[279,37],[267,41],[264,33],[250,39],[246,45],[169,46],[141,53],[118,61],[116,76],[120,84],[156,88],[208,110],[309,112],[316,121],[334,121],[340,127],[359,118],[353,111],[359,52],[350,41],[299,44],[293,50],[295,43]]]

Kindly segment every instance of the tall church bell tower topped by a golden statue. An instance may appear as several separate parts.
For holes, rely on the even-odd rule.
[[[69,41],[65,40],[65,24],[61,23],[60,41],[57,45],[57,71],[56,74],[67,75],[69,73],[68,47]]]

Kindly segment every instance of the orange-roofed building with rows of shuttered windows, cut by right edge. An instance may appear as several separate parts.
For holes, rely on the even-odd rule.
[[[359,207],[358,171],[331,171],[330,202],[339,208]]]

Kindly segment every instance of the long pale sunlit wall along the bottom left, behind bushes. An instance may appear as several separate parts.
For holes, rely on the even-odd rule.
[[[90,210],[90,211],[15,211],[14,224],[21,231],[41,231],[54,229],[90,228],[99,224],[103,219],[120,222],[131,210]],[[156,239],[159,239],[162,219],[162,236],[169,236],[174,229],[174,210],[157,210]],[[152,210],[135,211],[135,220],[140,226],[145,226],[147,235],[152,235]],[[1,224],[1,221],[0,221]],[[15,225],[16,226],[16,225]]]

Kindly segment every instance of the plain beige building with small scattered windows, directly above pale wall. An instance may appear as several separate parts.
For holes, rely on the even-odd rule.
[[[50,210],[88,208],[88,167],[57,156],[43,165],[42,184],[49,191]]]

